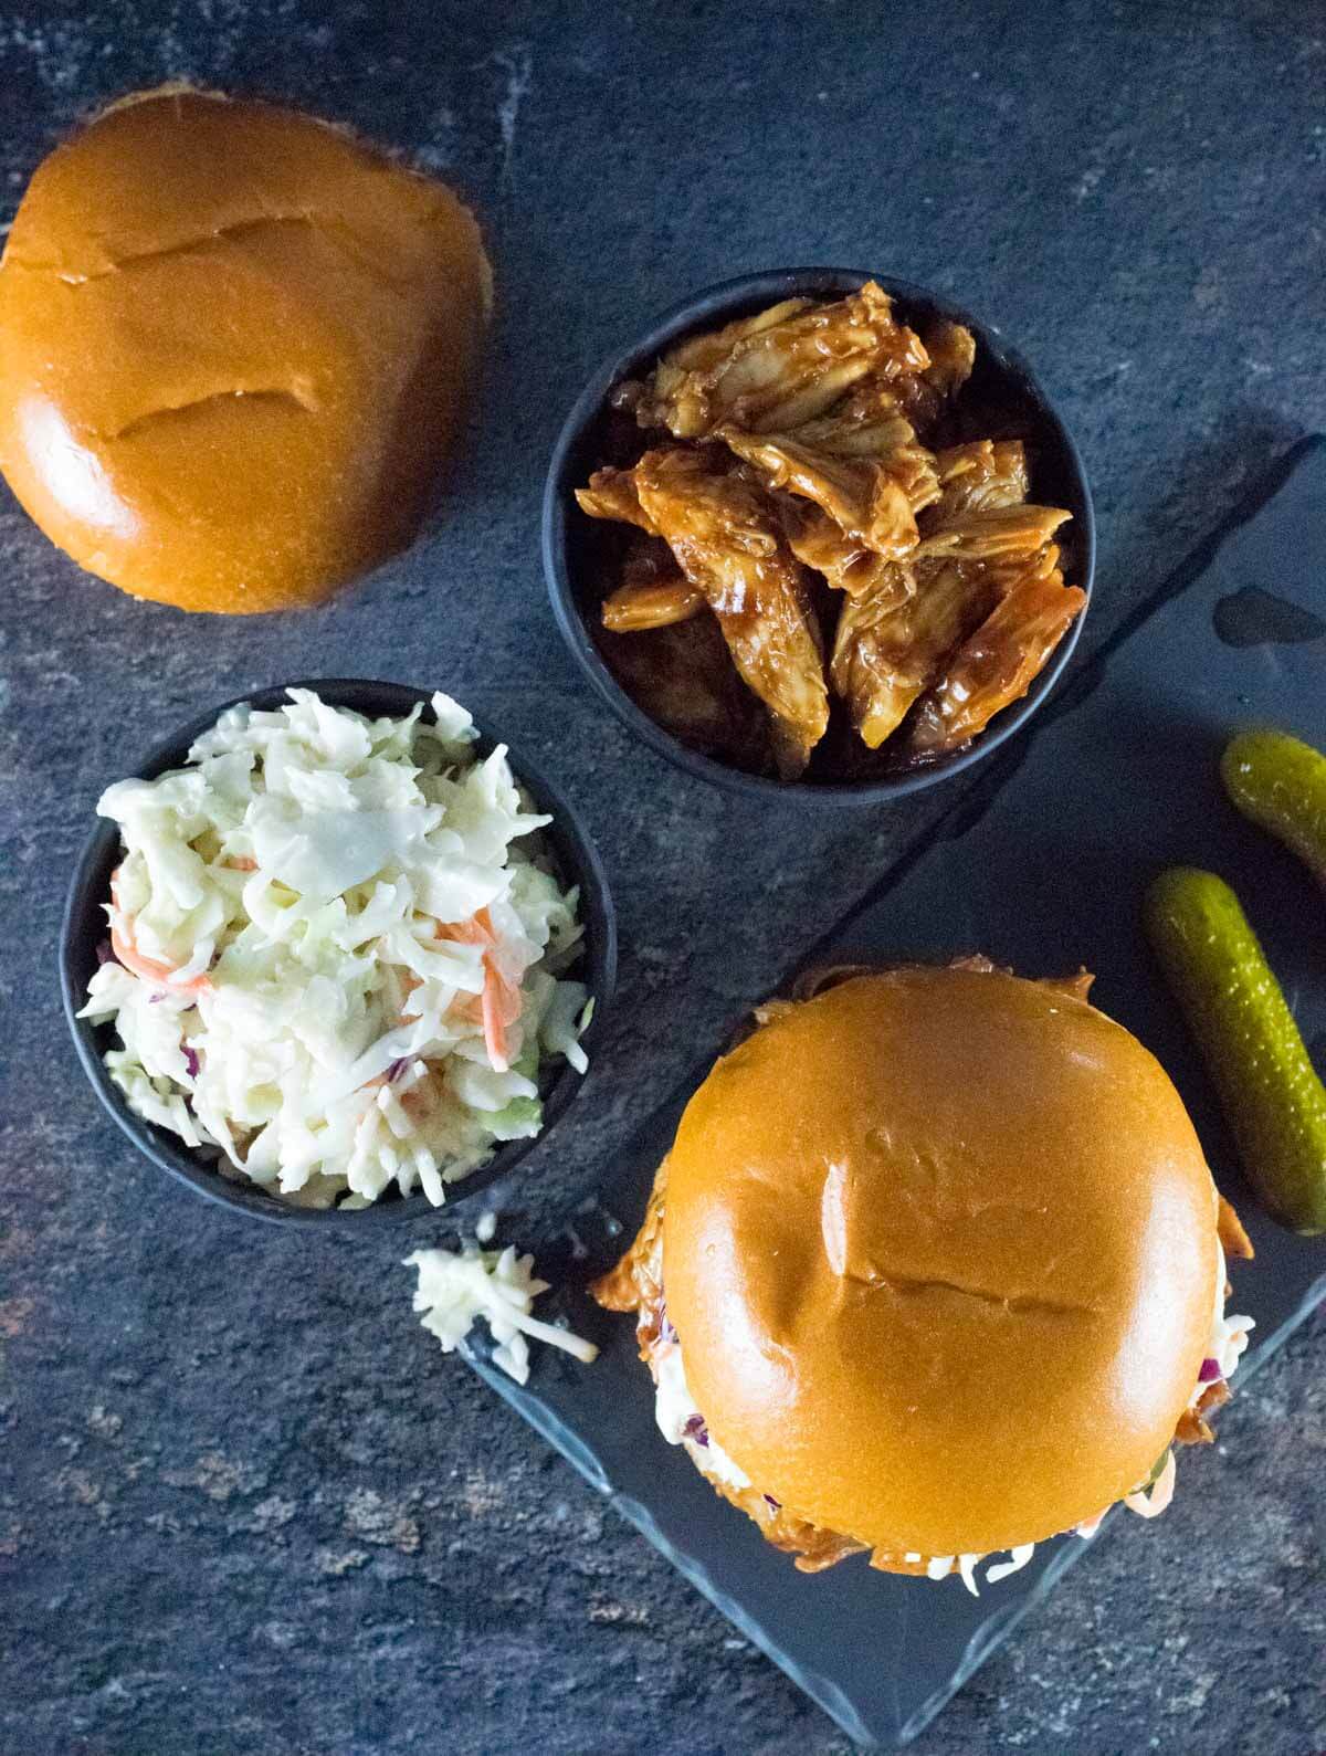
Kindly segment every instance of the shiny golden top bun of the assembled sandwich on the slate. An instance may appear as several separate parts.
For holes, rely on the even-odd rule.
[[[971,969],[857,976],[692,1098],[662,1278],[710,1431],[885,1554],[989,1554],[1143,1484],[1198,1382],[1217,1194],[1150,1054]]]

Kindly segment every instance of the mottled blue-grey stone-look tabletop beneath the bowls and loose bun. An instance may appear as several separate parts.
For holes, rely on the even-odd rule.
[[[193,76],[451,176],[501,295],[448,522],[316,615],[135,604],[0,500],[5,1752],[845,1751],[437,1354],[404,1240],[241,1224],[137,1162],[56,1011],[68,860],[146,745],[290,674],[441,683],[537,752],[601,839],[625,939],[611,1050],[511,1196],[537,1238],[692,1045],[940,804],[834,820],[729,801],[595,706],[536,550],[585,372],[743,269],[843,262],[964,299],[1082,441],[1089,653],[1268,457],[1326,425],[1322,39],[1315,4],[1270,0],[0,9],[5,218],[76,116]],[[1326,1747],[1324,1336],[1321,1317],[1296,1336],[1173,1510],[1112,1533],[924,1751]]]

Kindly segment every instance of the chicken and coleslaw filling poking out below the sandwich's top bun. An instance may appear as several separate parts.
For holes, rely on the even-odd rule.
[[[655,1384],[655,1421],[659,1431],[669,1445],[681,1445],[685,1449],[711,1487],[752,1517],[767,1542],[776,1549],[794,1554],[796,1566],[801,1572],[815,1573],[825,1566],[834,1566],[850,1554],[868,1552],[864,1544],[836,1531],[827,1531],[810,1519],[801,1517],[773,1494],[762,1493],[710,1431],[710,1424],[687,1385],[681,1342],[667,1317],[662,1278],[666,1171],[667,1166],[664,1164],[655,1180],[645,1222],[631,1250],[592,1289],[595,1299],[608,1310],[636,1313],[639,1357],[648,1366]],[[1252,1247],[1235,1210],[1224,1199],[1221,1199],[1219,1208],[1219,1245],[1215,1254],[1215,1301],[1210,1340],[1187,1408],[1175,1429],[1177,1443],[1208,1443],[1214,1438],[1207,1424],[1207,1415],[1229,1400],[1228,1380],[1233,1377],[1247,1349],[1249,1331],[1254,1328],[1250,1317],[1226,1313],[1229,1296],[1226,1254],[1250,1256]],[[1175,1454],[1170,1445],[1156,1461],[1150,1477],[1140,1482],[1133,1493],[1124,1494],[1121,1503],[1140,1517],[1159,1517],[1173,1498],[1175,1475]],[[1064,1535],[1094,1536],[1110,1510],[1110,1507],[1103,1507],[1094,1517]],[[980,1596],[976,1580],[978,1565],[989,1563],[985,1566],[985,1584],[994,1586],[1027,1566],[1034,1551],[1034,1544],[1020,1544],[1008,1551],[1006,1559],[998,1559],[992,1554],[929,1556],[917,1552],[882,1554],[875,1551],[871,1552],[871,1566],[924,1575],[931,1580],[957,1573],[966,1589],[973,1596]]]

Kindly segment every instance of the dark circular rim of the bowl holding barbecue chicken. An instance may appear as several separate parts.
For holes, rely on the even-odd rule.
[[[901,774],[855,781],[785,781],[769,774],[748,774],[745,769],[731,767],[708,757],[699,750],[683,745],[680,738],[666,730],[653,720],[627,690],[616,681],[599,646],[590,634],[585,618],[576,604],[567,564],[569,534],[569,495],[571,458],[578,450],[588,427],[602,414],[609,392],[620,379],[638,372],[641,365],[655,360],[667,346],[685,335],[732,318],[746,306],[776,304],[780,299],[799,295],[838,295],[859,290],[866,281],[878,284],[903,306],[922,306],[936,316],[966,323],[976,335],[978,344],[991,353],[996,362],[1017,374],[1038,407],[1038,416],[1054,434],[1064,465],[1073,476],[1077,493],[1082,502],[1080,515],[1073,515],[1077,541],[1082,557],[1082,578],[1075,583],[1085,594],[1080,613],[1073,618],[1068,632],[1050,655],[1049,664],[1033,680],[1027,694],[1005,708],[992,725],[982,730],[964,750],[945,757],[940,762],[917,767]],[[701,288],[687,299],[678,300],[662,316],[655,318],[646,334],[627,348],[618,348],[604,358],[590,374],[588,383],[571,407],[548,464],[548,476],[543,492],[541,518],[543,572],[551,601],[553,618],[562,632],[562,639],[574,655],[580,669],[588,678],[592,688],[616,718],[650,748],[666,757],[671,764],[699,780],[731,792],[739,792],[755,799],[789,799],[818,810],[838,806],[869,806],[889,799],[903,799],[913,792],[924,792],[938,785],[950,774],[961,774],[984,757],[994,752],[1031,718],[1052,692],[1063,674],[1082,634],[1082,623],[1091,609],[1092,587],[1096,578],[1096,513],[1091,499],[1091,485],[1082,462],[1082,453],[1063,421],[1057,407],[1047,395],[1041,381],[1033,372],[1026,356],[1005,339],[998,325],[985,323],[962,306],[954,304],[947,295],[904,281],[889,274],[876,274],[866,269],[803,267],[803,269],[762,269],[753,274],[738,274],[727,281],[717,281]]]

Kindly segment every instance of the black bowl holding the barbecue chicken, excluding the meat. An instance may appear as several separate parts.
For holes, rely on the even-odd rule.
[[[720,328],[724,323],[752,316],[782,299],[841,299],[845,293],[857,291],[869,279],[878,281],[892,295],[903,321],[915,325],[927,318],[950,318],[966,323],[975,334],[976,369],[964,397],[978,406],[989,402],[1026,430],[1034,499],[1040,504],[1064,506],[1073,515],[1073,522],[1063,530],[1064,578],[1070,585],[1082,587],[1091,597],[1096,569],[1096,523],[1082,458],[1068,428],[1036,383],[1031,367],[996,328],[924,286],[896,281],[887,274],[866,274],[859,269],[771,269],[764,274],[745,274],[734,281],[724,281],[694,299],[687,299],[660,318],[638,342],[601,365],[567,416],[553,450],[543,499],[543,567],[562,636],[585,676],[613,713],[678,767],[720,787],[762,799],[790,797],[818,806],[880,804],[933,787],[948,774],[959,774],[973,762],[991,755],[1020,725],[1026,725],[1068,664],[1085,616],[1084,606],[1082,615],[1071,623],[1024,699],[1005,708],[971,745],[926,766],[875,773],[862,780],[782,781],[732,767],[681,743],[680,738],[650,718],[613,676],[595,639],[606,555],[604,529],[611,530],[611,527],[588,518],[574,500],[574,490],[583,486],[590,472],[609,455],[611,411],[608,399],[611,392],[627,378],[645,376],[659,355],[687,335]]]

